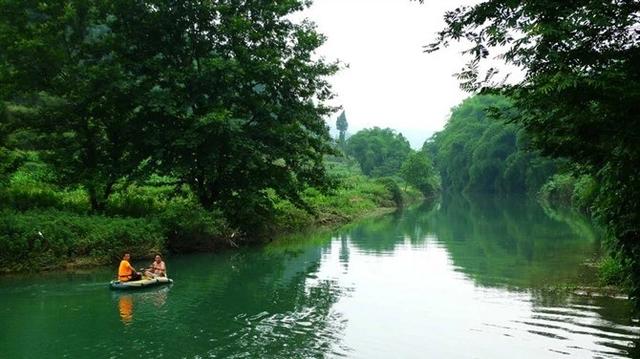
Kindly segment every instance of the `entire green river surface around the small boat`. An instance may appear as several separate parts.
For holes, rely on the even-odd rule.
[[[640,323],[591,282],[599,235],[516,198],[445,198],[263,248],[0,277],[0,358],[628,358]],[[134,262],[135,259],[134,259]],[[136,262],[142,266],[146,262]]]

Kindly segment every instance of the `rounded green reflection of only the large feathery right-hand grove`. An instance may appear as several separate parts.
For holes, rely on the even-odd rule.
[[[537,288],[575,283],[599,246],[588,225],[550,218],[525,198],[448,197],[426,225],[476,284]],[[590,229],[586,231],[586,229]]]

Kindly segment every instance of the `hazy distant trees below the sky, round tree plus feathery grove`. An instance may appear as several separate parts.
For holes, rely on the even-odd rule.
[[[503,96],[473,96],[452,109],[445,128],[420,151],[390,128],[358,131],[344,142],[344,153],[372,177],[396,176],[432,195],[440,188],[451,192],[535,194],[566,166],[532,148],[524,129],[490,117],[509,109]],[[338,121],[346,122],[344,112]],[[338,139],[338,144],[341,142]]]

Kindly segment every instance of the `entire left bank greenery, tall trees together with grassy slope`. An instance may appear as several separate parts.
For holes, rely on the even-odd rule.
[[[0,270],[236,247],[401,204],[394,179],[326,161],[338,65],[291,20],[308,5],[0,0]]]

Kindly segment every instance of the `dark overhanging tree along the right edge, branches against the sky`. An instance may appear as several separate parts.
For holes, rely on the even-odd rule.
[[[445,21],[429,50],[471,42],[463,86],[511,97],[518,111],[499,115],[600,182],[599,215],[640,298],[640,2],[491,0]],[[496,54],[524,71],[522,81],[481,71]]]

